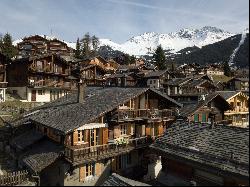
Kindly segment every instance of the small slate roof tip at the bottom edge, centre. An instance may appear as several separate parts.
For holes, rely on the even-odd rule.
[[[113,173],[101,186],[151,186]]]

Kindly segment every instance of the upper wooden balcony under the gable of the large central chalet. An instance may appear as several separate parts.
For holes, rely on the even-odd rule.
[[[115,115],[111,121],[124,122],[124,121],[136,121],[136,120],[163,120],[169,121],[174,119],[174,113],[172,110],[151,110],[151,109],[119,109],[117,115]]]

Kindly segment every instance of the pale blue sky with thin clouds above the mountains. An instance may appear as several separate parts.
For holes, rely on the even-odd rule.
[[[0,0],[0,33],[75,41],[86,32],[125,42],[144,32],[249,27],[249,0]]]

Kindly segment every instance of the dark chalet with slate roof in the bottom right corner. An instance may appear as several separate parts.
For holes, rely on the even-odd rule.
[[[182,122],[150,148],[176,185],[249,185],[249,129]]]

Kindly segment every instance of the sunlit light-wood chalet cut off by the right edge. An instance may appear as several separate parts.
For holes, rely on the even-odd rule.
[[[225,119],[231,120],[233,126],[249,126],[249,97],[242,92],[220,91],[217,92],[223,96],[232,106],[231,110],[225,111]]]

